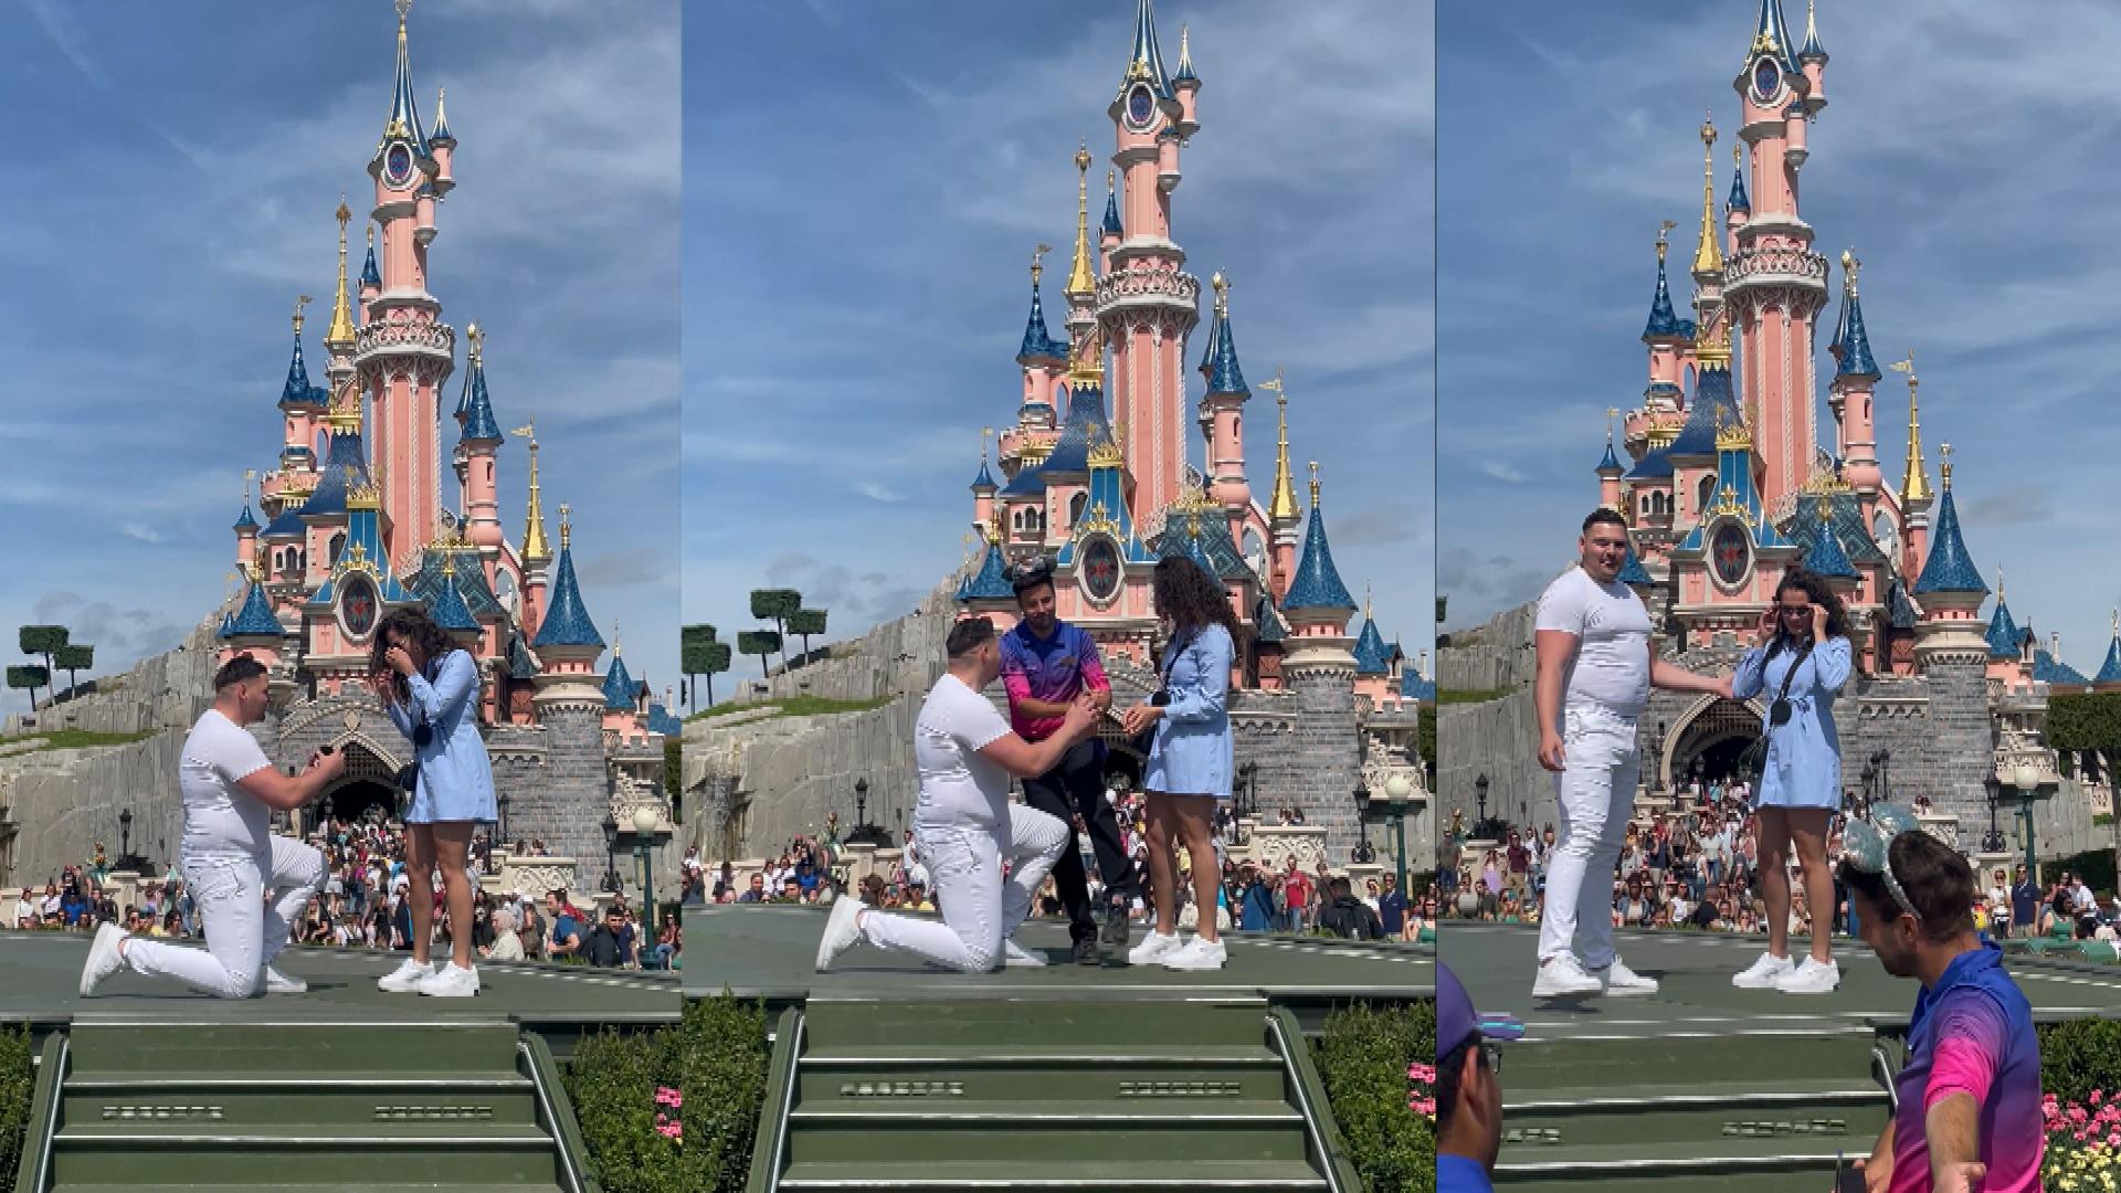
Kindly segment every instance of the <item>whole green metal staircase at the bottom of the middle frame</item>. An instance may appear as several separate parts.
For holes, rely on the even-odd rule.
[[[1355,1193],[1264,1000],[823,1002],[783,1013],[751,1193]]]

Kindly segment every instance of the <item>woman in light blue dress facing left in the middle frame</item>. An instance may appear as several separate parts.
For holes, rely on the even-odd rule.
[[[1220,970],[1228,959],[1215,930],[1215,800],[1230,798],[1237,743],[1230,734],[1230,667],[1237,656],[1237,618],[1222,582],[1198,563],[1158,560],[1152,582],[1156,616],[1171,626],[1164,645],[1164,686],[1156,698],[1126,709],[1128,737],[1156,726],[1150,760],[1141,771],[1150,811],[1150,877],[1156,928],[1126,959],[1171,970]],[[1162,703],[1158,703],[1162,701]],[[1196,936],[1177,936],[1177,843],[1192,862]]]

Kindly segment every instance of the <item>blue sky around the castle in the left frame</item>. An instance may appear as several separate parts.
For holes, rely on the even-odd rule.
[[[384,0],[0,8],[8,652],[13,626],[68,622],[98,673],[119,671],[221,601],[242,473],[282,439],[297,293],[320,299],[305,348],[322,382],[341,191],[358,270],[395,30]],[[588,609],[660,692],[677,671],[679,6],[422,0],[411,64],[422,117],[448,87],[460,140],[431,289],[460,333],[488,329],[498,420],[537,418],[549,531],[568,501]],[[462,361],[452,405],[460,382]],[[520,539],[522,439],[501,461]]]

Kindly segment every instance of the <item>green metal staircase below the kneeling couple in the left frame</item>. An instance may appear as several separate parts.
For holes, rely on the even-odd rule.
[[[40,1070],[17,1193],[596,1193],[558,1066],[505,1021],[85,1015]]]

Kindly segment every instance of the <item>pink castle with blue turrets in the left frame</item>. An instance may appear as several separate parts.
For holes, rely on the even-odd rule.
[[[679,730],[617,645],[598,673],[607,643],[575,577],[571,509],[560,505],[556,554],[528,420],[513,431],[530,456],[522,541],[503,533],[505,437],[479,325],[467,329],[456,446],[448,461],[441,454],[456,331],[428,293],[428,248],[435,210],[456,189],[458,140],[441,93],[433,125],[420,119],[407,8],[409,0],[397,0],[397,74],[367,163],[375,206],[358,293],[348,293],[352,212],[341,200],[337,291],[322,340],[327,384],[312,384],[303,363],[310,299],[301,297],[278,399],[282,448],[259,480],[263,524],[250,509],[255,473],[246,473],[233,526],[248,590],[221,624],[221,654],[248,652],[269,667],[276,711],[259,732],[278,764],[299,766],[318,745],[337,745],[348,771],[327,807],[348,817],[390,809],[388,779],[411,756],[367,690],[369,654],[384,613],[426,607],[479,664],[479,722],[503,792],[498,836],[541,838],[549,853],[588,868],[607,849],[607,813],[630,834],[647,807],[668,832],[662,743]],[[456,476],[456,514],[443,507],[443,467]]]

